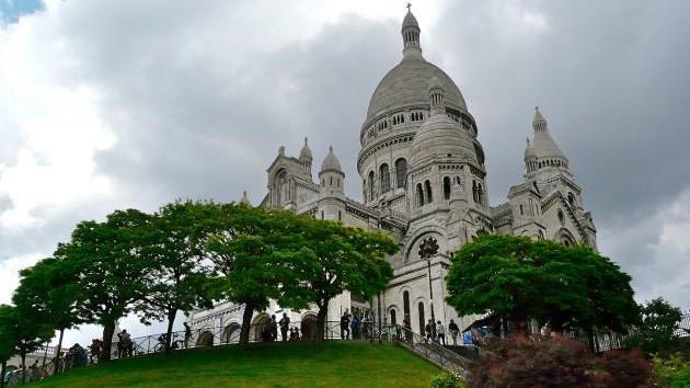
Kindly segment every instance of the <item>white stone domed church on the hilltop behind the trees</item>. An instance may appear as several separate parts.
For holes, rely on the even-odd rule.
[[[382,322],[402,323],[409,313],[413,330],[423,332],[433,304],[436,320],[447,326],[453,319],[467,327],[474,317],[459,317],[444,301],[444,278],[452,252],[481,232],[584,242],[596,249],[596,228],[585,210],[582,189],[539,110],[525,149],[524,181],[510,187],[507,202],[488,204],[476,122],[452,79],[424,59],[419,35],[419,25],[407,11],[402,23],[402,59],[376,87],[359,134],[361,201],[345,196],[346,176],[333,148],[319,171],[313,171],[313,153],[306,139],[298,157],[280,147],[267,169],[268,193],[261,206],[386,230],[400,243],[400,252],[389,258],[394,278],[386,292],[371,299],[341,295],[330,304],[332,321],[346,309],[378,319],[380,308]],[[422,240],[428,237],[439,246],[430,261],[418,255]],[[211,341],[212,333],[220,333],[215,342],[234,342],[242,310],[242,305],[222,303],[194,311],[187,321],[196,332],[206,333],[197,341]],[[283,310],[272,305],[268,311],[256,313],[253,323],[266,322],[271,315],[280,319],[283,312],[309,334],[315,310]]]

